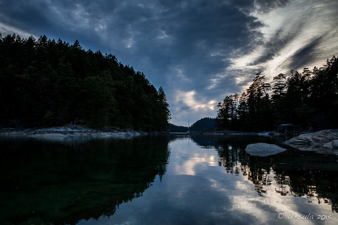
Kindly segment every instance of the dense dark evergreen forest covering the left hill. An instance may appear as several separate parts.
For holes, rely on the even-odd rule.
[[[74,44],[0,34],[0,123],[40,127],[165,130],[165,93],[112,54]]]

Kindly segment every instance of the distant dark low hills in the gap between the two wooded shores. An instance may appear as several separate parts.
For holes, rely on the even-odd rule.
[[[216,128],[215,119],[205,117],[205,118],[202,118],[196,121],[193,125],[191,125],[189,130],[191,132],[205,132],[205,131],[209,131],[215,128]],[[170,123],[169,130],[172,133],[185,133],[188,131],[188,127],[187,126],[176,126]]]

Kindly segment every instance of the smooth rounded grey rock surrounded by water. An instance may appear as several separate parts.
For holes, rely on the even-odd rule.
[[[267,143],[248,144],[246,147],[246,152],[251,156],[271,156],[284,151],[285,148]]]

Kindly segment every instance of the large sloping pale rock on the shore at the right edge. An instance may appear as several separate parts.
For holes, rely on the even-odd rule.
[[[337,139],[338,129],[328,129],[321,130],[320,132],[299,135],[284,143],[302,151],[326,152],[328,148],[332,149],[337,147]]]

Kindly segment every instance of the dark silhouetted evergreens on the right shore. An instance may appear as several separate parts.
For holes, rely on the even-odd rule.
[[[218,127],[265,130],[292,123],[308,129],[338,126],[338,58],[328,59],[324,67],[291,70],[273,78],[273,87],[257,73],[241,96],[237,93],[218,103]],[[272,89],[272,95],[268,91]]]

